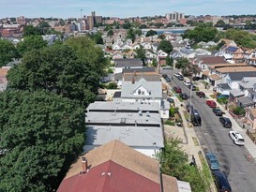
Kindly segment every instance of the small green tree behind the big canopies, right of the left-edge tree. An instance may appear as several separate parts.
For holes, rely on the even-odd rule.
[[[24,37],[23,41],[17,44],[17,50],[21,57],[23,53],[32,50],[39,50],[47,46],[47,41],[43,40],[41,36],[28,36]]]

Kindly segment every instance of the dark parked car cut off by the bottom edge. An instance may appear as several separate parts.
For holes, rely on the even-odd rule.
[[[212,171],[214,183],[217,186],[218,192],[232,192],[231,185],[227,176],[220,170]]]

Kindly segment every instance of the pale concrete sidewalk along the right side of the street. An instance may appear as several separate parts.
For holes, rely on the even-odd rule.
[[[256,145],[253,143],[252,140],[249,139],[249,137],[248,137],[248,135],[246,133],[247,129],[244,129],[241,126],[239,126],[238,123],[233,119],[233,116],[230,114],[230,112],[225,110],[225,108],[223,106],[219,105],[216,98],[212,98],[211,97],[211,95],[213,95],[213,88],[212,87],[210,87],[209,89],[205,89],[205,87],[204,87],[202,82],[200,82],[196,86],[199,87],[200,91],[204,92],[205,96],[208,99],[215,100],[216,103],[217,103],[218,108],[221,111],[225,112],[224,116],[230,118],[230,120],[232,121],[232,125],[233,125],[232,129],[235,130],[235,131],[238,131],[239,133],[241,133],[241,135],[245,139],[245,147],[247,148],[248,153],[250,154],[251,158],[256,160]]]

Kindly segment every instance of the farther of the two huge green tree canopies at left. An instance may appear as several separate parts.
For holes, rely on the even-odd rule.
[[[77,99],[86,107],[95,99],[105,59],[100,57],[103,53],[98,52],[98,47],[87,44],[88,47],[84,49],[83,37],[79,39],[70,39],[67,45],[55,44],[26,52],[23,63],[9,70],[8,88],[29,91],[44,89]],[[87,57],[90,52],[91,55]]]

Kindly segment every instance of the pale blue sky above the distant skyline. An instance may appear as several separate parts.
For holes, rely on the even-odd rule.
[[[0,18],[80,18],[155,16],[174,11],[185,15],[256,14],[256,0],[0,0]]]

